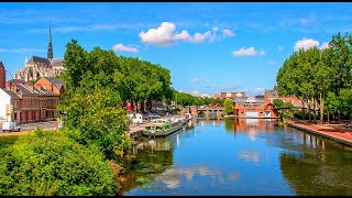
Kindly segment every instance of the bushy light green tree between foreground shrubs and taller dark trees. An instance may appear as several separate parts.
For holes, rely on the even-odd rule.
[[[64,132],[81,144],[94,144],[109,158],[130,147],[127,112],[116,107],[119,99],[112,96],[112,90],[96,89],[90,95],[75,94],[58,107],[67,112]]]

